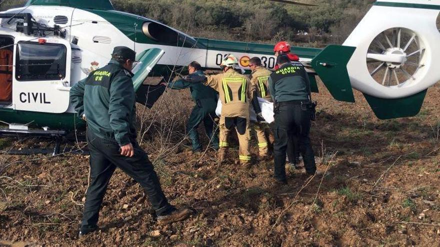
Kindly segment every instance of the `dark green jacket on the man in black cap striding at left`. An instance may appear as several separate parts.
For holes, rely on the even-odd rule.
[[[119,62],[110,62],[80,80],[70,89],[70,102],[79,117],[85,114],[87,128],[119,146],[135,138],[135,94],[131,77]]]

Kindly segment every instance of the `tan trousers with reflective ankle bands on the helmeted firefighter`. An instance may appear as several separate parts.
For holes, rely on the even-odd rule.
[[[229,148],[229,133],[232,130],[237,132],[239,152],[238,159],[240,163],[246,164],[250,162],[250,130],[249,130],[249,120],[241,117],[221,117],[220,118],[220,160],[224,161],[226,157],[224,155],[227,153],[226,150]]]

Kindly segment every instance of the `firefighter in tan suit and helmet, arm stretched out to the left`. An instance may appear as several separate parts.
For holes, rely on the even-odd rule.
[[[227,158],[227,151],[229,149],[228,137],[232,130],[237,132],[239,142],[239,156],[240,164],[249,166],[251,164],[250,157],[250,132],[249,132],[249,107],[252,105],[255,112],[261,116],[259,105],[253,98],[253,90],[250,86],[249,79],[238,73],[240,70],[238,60],[233,55],[226,56],[220,68],[223,73],[216,75],[209,75],[206,77],[195,77],[193,82],[203,82],[206,86],[215,89],[220,96],[221,101],[221,116],[219,122],[220,128],[220,142],[219,142],[219,160],[224,163]]]

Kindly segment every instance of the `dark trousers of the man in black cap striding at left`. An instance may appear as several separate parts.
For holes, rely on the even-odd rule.
[[[87,142],[90,150],[90,186],[84,204],[81,232],[96,228],[99,208],[116,167],[142,186],[156,215],[164,215],[174,210],[160,188],[159,179],[148,155],[135,140],[131,140],[134,147],[133,157],[121,156],[119,145],[114,138],[101,138],[90,130],[87,130]]]

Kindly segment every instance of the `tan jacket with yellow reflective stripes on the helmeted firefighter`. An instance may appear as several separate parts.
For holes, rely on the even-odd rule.
[[[221,117],[242,117],[249,119],[249,104],[253,88],[249,79],[229,69],[224,73],[206,76],[206,86],[219,93],[221,100]]]

